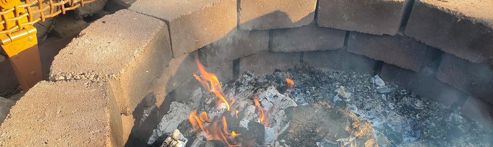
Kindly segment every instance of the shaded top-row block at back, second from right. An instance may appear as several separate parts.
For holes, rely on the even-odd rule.
[[[317,23],[370,34],[395,35],[410,0],[319,0]]]

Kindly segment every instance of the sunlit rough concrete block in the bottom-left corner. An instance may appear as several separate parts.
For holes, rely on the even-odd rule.
[[[10,109],[2,147],[123,147],[120,112],[107,82],[41,81]]]

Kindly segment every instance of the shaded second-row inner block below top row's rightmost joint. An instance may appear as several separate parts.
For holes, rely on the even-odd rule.
[[[439,50],[401,35],[372,35],[350,32],[348,51],[404,69],[419,72],[437,57]]]

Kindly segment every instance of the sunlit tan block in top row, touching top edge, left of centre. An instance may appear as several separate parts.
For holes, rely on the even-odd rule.
[[[236,5],[236,0],[137,0],[128,9],[165,21],[177,58],[236,28]]]

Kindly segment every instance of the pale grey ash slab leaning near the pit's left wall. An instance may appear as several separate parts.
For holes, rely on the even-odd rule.
[[[192,109],[183,103],[172,101],[170,110],[161,119],[161,123],[152,131],[151,137],[147,144],[152,144],[156,139],[163,134],[171,133],[178,127],[178,124],[189,118]]]

